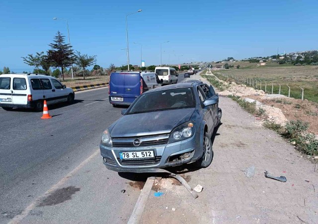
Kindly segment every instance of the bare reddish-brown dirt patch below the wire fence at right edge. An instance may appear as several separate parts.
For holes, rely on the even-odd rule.
[[[248,96],[266,105],[278,108],[288,120],[302,120],[309,123],[309,131],[318,134],[318,104],[293,98],[263,99],[262,96]]]

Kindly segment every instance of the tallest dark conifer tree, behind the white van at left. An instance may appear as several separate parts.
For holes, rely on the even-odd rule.
[[[49,44],[51,50],[48,50],[48,60],[52,62],[54,68],[61,67],[64,81],[64,67],[71,67],[75,62],[73,50],[65,42],[65,36],[58,31],[54,37],[53,43]],[[72,47],[72,46],[71,46]]]

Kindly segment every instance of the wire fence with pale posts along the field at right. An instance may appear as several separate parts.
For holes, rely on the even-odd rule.
[[[229,74],[223,74],[223,73],[221,73],[221,75],[225,78],[233,79],[236,83],[250,86],[254,88],[255,90],[263,90],[265,93],[268,93],[268,94],[282,94],[291,98],[304,100],[304,88],[302,88],[301,86],[291,88],[287,84],[280,84],[277,82],[265,81],[259,78],[249,78],[244,76],[229,75]],[[308,100],[311,100],[311,99],[308,99]],[[318,99],[312,100],[312,101],[317,102],[317,100]]]

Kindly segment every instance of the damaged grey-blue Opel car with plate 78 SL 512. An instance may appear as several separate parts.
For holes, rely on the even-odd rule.
[[[123,110],[102,134],[103,163],[117,172],[152,172],[186,163],[208,167],[211,135],[220,123],[219,96],[202,83],[180,83],[150,90]]]

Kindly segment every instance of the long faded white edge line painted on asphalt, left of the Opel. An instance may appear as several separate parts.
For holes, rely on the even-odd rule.
[[[76,167],[74,170],[72,170],[68,175],[62,178],[58,183],[53,185],[47,192],[45,192],[43,195],[39,196],[35,201],[33,201],[28,207],[26,207],[23,212],[20,215],[15,216],[8,224],[18,224],[21,223],[21,221],[30,214],[30,212],[39,205],[43,199],[45,199],[47,196],[52,194],[55,190],[59,189],[67,180],[69,180],[70,177],[72,177],[75,173],[77,173],[84,165],[86,165],[90,160],[92,160],[96,155],[100,153],[99,149],[97,149],[93,154],[91,154],[87,159],[82,161],[78,167]]]

